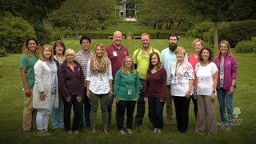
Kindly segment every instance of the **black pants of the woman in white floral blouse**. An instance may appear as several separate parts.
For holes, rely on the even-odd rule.
[[[177,96],[173,96],[173,98],[176,120],[178,124],[178,131],[185,133],[189,122],[190,99],[187,99],[186,97]]]

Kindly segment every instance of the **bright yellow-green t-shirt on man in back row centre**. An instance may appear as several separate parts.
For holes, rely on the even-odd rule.
[[[148,69],[148,66],[149,66],[150,54],[154,51],[154,52],[157,52],[160,57],[159,51],[156,49],[154,50],[153,49],[154,49],[153,47],[150,47],[150,50],[147,50],[147,51],[138,49],[138,50],[135,50],[133,54],[134,63],[137,64],[138,76],[143,80],[146,80],[146,70]]]

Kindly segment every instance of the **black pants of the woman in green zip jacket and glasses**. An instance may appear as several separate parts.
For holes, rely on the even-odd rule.
[[[127,119],[126,119],[127,129],[131,129],[134,121],[135,105],[136,105],[135,101],[122,101],[122,100],[118,101],[117,110],[116,110],[118,130],[123,130],[123,121],[124,121],[125,112],[127,115]]]

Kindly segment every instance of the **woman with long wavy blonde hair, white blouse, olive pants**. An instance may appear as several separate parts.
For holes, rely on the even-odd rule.
[[[108,134],[107,102],[112,96],[112,80],[113,77],[110,59],[107,57],[104,46],[102,46],[102,44],[98,44],[95,46],[94,54],[88,62],[86,73],[86,95],[88,98],[90,98],[91,102],[90,126],[93,133],[96,133],[95,123],[98,110],[98,101],[100,101],[103,130],[105,134]]]

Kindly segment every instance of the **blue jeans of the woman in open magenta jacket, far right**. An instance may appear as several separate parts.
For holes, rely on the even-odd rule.
[[[230,94],[229,90],[224,90],[223,88],[218,89],[217,92],[221,119],[226,126],[233,122],[233,94]]]

